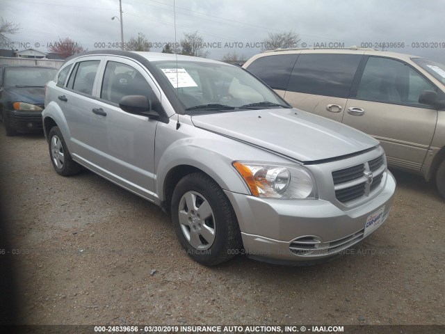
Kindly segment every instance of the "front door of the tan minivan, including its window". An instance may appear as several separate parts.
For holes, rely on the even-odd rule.
[[[419,172],[437,122],[419,95],[437,88],[411,65],[378,56],[367,58],[357,83],[343,123],[378,139],[390,165]]]

